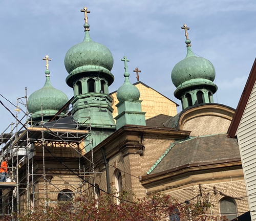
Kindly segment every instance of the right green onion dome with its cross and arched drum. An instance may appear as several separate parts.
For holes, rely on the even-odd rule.
[[[181,100],[182,108],[203,103],[213,103],[213,95],[218,87],[213,82],[215,79],[215,68],[210,61],[197,57],[191,51],[191,41],[188,39],[187,30],[184,24],[187,55],[178,62],[172,71],[172,81],[177,89],[174,96]]]

